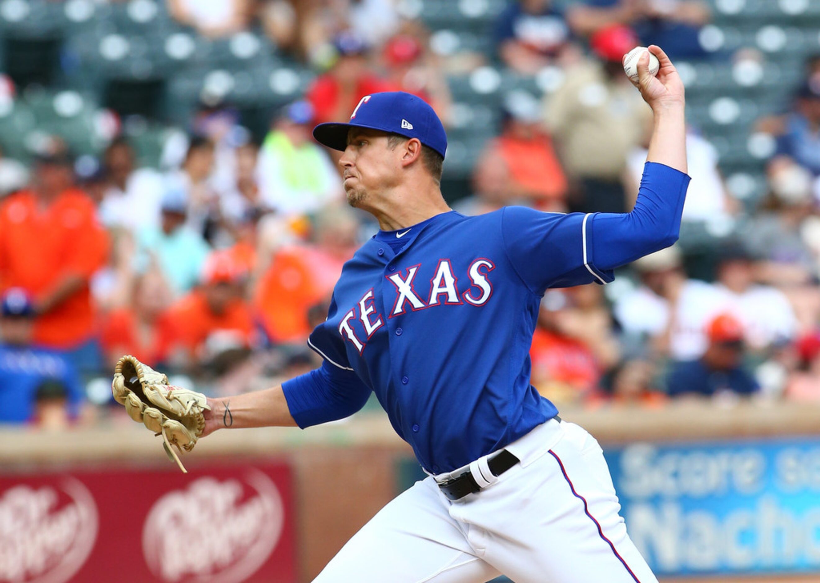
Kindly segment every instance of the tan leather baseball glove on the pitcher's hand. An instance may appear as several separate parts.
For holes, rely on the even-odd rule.
[[[117,403],[134,421],[144,423],[155,435],[162,435],[168,457],[188,473],[173,445],[191,451],[205,427],[203,411],[210,411],[204,394],[168,385],[168,377],[147,364],[125,355],[114,368],[112,393]]]

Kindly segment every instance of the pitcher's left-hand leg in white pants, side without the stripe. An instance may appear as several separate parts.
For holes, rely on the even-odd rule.
[[[315,583],[484,583],[499,575],[472,554],[430,479],[362,526]]]

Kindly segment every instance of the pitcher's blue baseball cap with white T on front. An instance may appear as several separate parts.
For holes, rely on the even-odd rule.
[[[447,151],[447,134],[433,108],[411,93],[385,91],[365,95],[346,124],[329,122],[313,128],[313,137],[328,148],[344,152],[348,147],[348,130],[367,128],[389,134],[417,138],[444,157]]]

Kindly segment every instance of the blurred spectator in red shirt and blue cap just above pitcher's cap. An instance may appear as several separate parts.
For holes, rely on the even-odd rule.
[[[345,31],[335,38],[334,46],[339,58],[330,71],[320,75],[307,89],[316,124],[347,121],[365,95],[397,89],[367,65],[369,48],[358,35]]]

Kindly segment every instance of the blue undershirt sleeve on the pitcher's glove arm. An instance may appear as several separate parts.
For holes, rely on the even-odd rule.
[[[364,407],[371,389],[353,371],[330,362],[282,384],[296,425],[304,429],[349,417]]]

